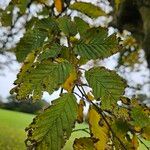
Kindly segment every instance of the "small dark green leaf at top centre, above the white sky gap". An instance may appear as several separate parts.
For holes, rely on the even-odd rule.
[[[69,17],[61,17],[58,19],[58,24],[60,30],[67,36],[75,36],[77,34],[77,29],[75,23],[71,21]]]

